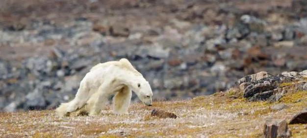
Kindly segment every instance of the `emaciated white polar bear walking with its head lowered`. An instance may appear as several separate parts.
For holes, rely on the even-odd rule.
[[[83,109],[89,115],[98,115],[110,94],[115,114],[128,114],[131,90],[147,106],[152,105],[152,89],[146,79],[127,59],[110,61],[94,66],[81,80],[75,99],[62,103],[56,112],[68,115]]]

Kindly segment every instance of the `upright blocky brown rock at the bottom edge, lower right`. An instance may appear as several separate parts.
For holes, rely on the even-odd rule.
[[[289,138],[291,131],[285,119],[283,120],[267,120],[264,124],[265,138]]]

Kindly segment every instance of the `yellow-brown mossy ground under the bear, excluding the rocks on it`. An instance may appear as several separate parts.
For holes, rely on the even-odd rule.
[[[232,93],[234,94],[234,93]],[[132,104],[128,115],[113,115],[110,108],[99,116],[59,118],[54,111],[0,113],[0,137],[4,138],[258,138],[266,119],[287,121],[306,108],[307,92],[287,93],[279,102],[247,102],[228,93],[199,96],[192,100],[156,101],[152,107]],[[287,108],[270,107],[284,103]],[[153,109],[175,113],[178,118],[145,118]],[[294,137],[307,137],[307,125],[289,125]]]

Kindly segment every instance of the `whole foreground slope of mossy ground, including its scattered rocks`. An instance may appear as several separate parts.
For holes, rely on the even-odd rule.
[[[53,110],[0,113],[0,137],[306,138],[306,71],[274,76],[286,78],[276,79],[278,85],[266,83],[272,76],[260,72],[241,78],[240,85],[227,92],[191,100],[155,101],[151,107],[135,103],[128,115],[114,115],[110,106],[99,116],[72,113],[59,118]],[[252,94],[249,87],[239,89],[242,81],[266,85],[260,89],[260,83],[255,84]]]

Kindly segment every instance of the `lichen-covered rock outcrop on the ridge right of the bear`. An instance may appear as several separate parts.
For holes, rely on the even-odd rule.
[[[286,92],[305,90],[307,83],[303,75],[304,71],[285,71],[277,76],[270,75],[266,71],[247,75],[239,79],[236,84],[243,97],[249,101],[270,100],[278,101]]]

